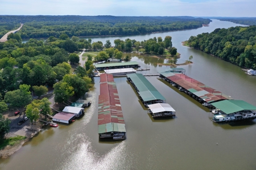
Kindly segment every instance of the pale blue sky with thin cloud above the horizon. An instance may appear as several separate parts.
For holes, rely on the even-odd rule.
[[[255,0],[0,0],[0,15],[256,17]]]

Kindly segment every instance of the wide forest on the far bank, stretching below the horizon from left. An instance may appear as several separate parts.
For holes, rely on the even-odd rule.
[[[18,28],[22,39],[71,36],[140,35],[152,32],[195,29],[210,19],[191,16],[0,16],[0,36]]]

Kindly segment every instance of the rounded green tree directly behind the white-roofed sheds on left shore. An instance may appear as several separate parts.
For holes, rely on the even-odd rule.
[[[69,86],[67,82],[60,81],[53,85],[54,101],[57,103],[63,103],[67,101],[70,96],[74,95],[74,88]]]

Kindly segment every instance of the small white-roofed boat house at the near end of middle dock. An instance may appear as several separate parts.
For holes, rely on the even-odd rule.
[[[175,109],[168,103],[156,103],[148,105],[148,113],[152,114],[152,117],[166,117],[175,116]]]

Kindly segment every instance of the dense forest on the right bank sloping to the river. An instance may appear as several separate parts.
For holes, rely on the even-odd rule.
[[[256,69],[256,26],[217,28],[191,36],[185,44],[238,66]]]

